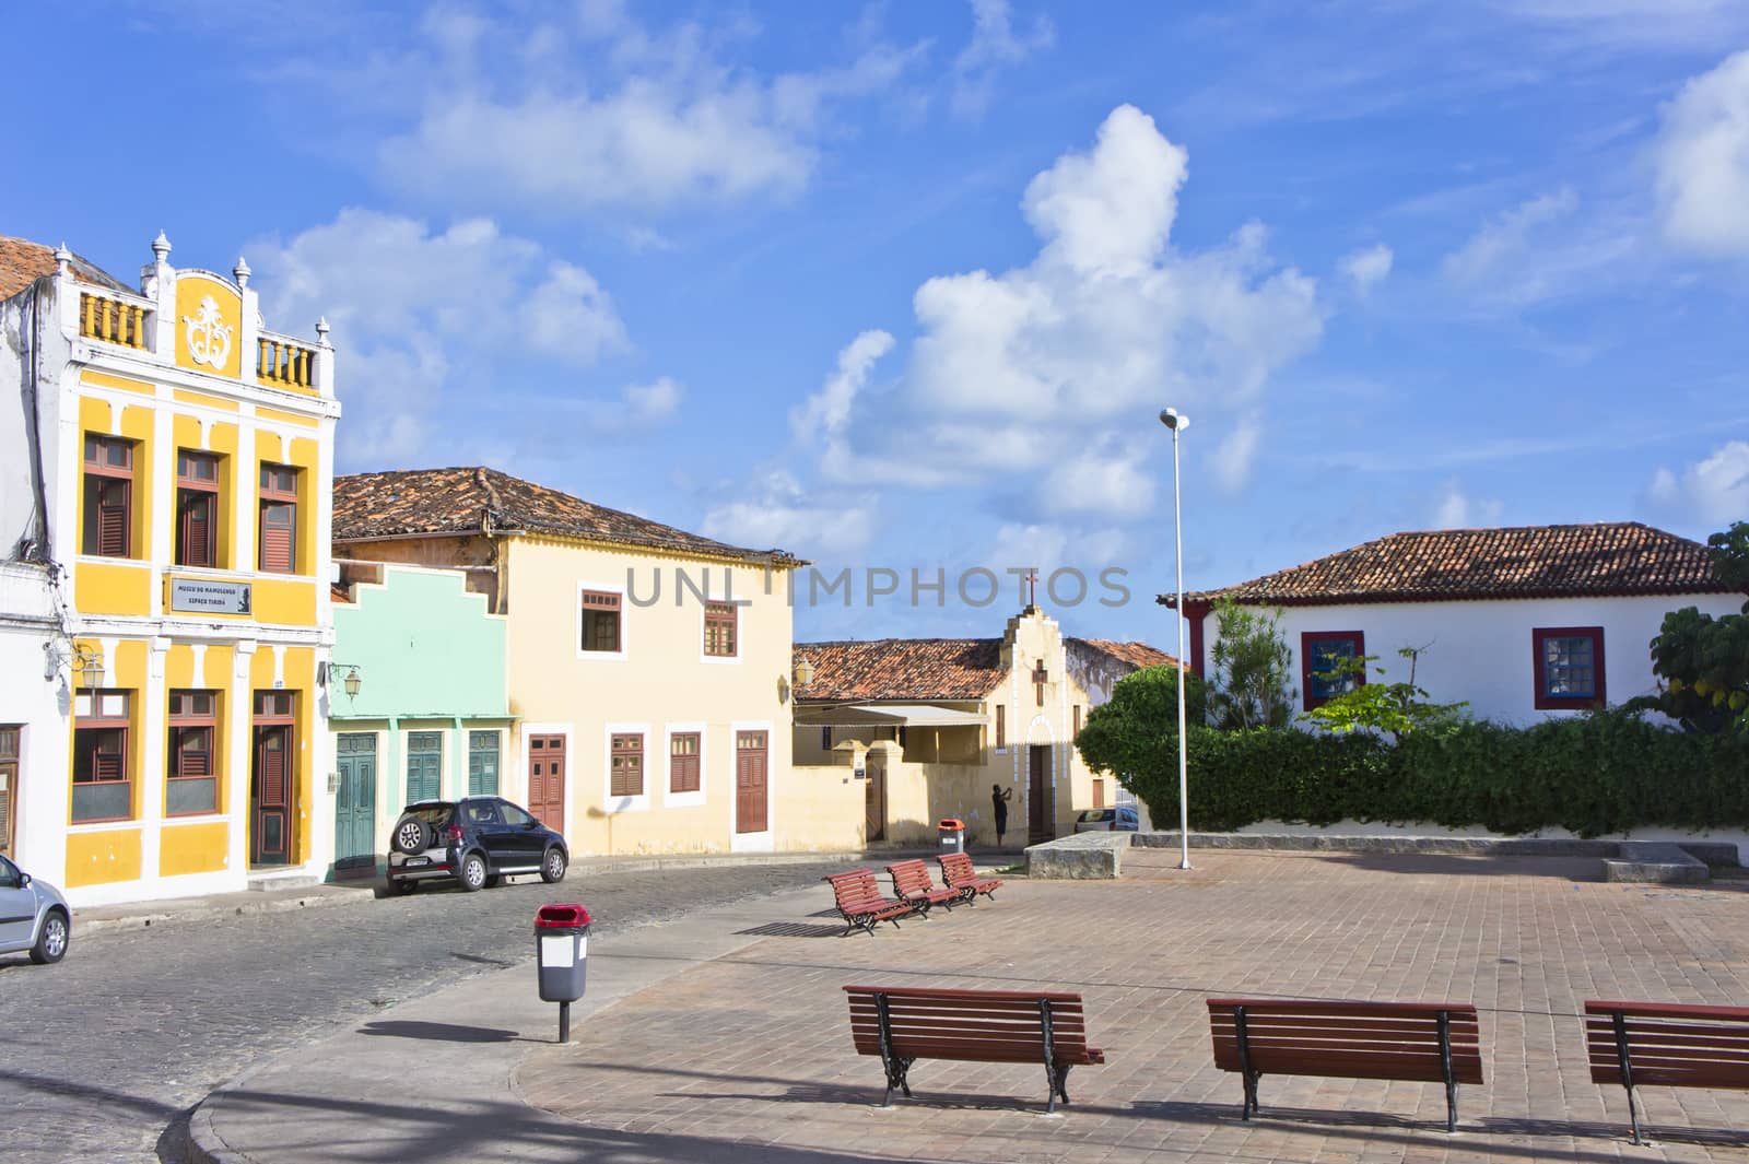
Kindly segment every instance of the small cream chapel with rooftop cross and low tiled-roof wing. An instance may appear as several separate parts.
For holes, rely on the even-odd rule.
[[[798,766],[852,767],[868,842],[934,844],[944,816],[967,842],[997,842],[993,790],[1007,793],[1006,848],[1074,830],[1116,802],[1074,739],[1090,697],[1056,620],[1027,606],[1002,638],[796,643]]]

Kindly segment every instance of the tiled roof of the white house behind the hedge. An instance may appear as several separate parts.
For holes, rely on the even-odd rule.
[[[1319,606],[1490,598],[1716,594],[1725,589],[1700,542],[1637,521],[1511,530],[1392,533],[1291,570],[1184,601]],[[1172,606],[1175,596],[1161,594]]]

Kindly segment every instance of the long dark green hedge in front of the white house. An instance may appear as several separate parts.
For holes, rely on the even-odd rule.
[[[1175,750],[1177,736],[1153,743]],[[1158,760],[1135,766],[1126,783],[1156,821],[1175,821],[1177,755]],[[1527,729],[1467,722],[1397,745],[1366,732],[1193,725],[1189,800],[1191,827],[1212,832],[1259,820],[1560,827],[1581,837],[1749,827],[1749,738],[1676,732],[1621,711]]]

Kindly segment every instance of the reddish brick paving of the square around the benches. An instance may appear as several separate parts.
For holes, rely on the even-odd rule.
[[[540,1047],[523,1099],[610,1140],[693,1159],[1744,1161],[1749,1094],[1590,1082],[1586,998],[1749,1001],[1739,884],[1628,886],[1595,860],[1137,849],[1119,883],[1011,881],[948,918],[838,939],[829,918],[771,926]],[[820,891],[822,907],[827,904]],[[850,1045],[848,982],[1081,991],[1105,1066],[1046,1117],[1042,1068],[918,1063],[916,1098],[878,1106],[880,1061]],[[1446,1000],[1481,1012],[1483,1087],[1448,1136],[1438,1085],[1266,1077],[1259,1119],[1216,1071],[1210,994]]]

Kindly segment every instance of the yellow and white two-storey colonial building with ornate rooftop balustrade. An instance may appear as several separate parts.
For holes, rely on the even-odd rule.
[[[75,905],[325,862],[334,358],[248,274],[0,239],[0,551],[51,613],[0,624],[10,844]]]

